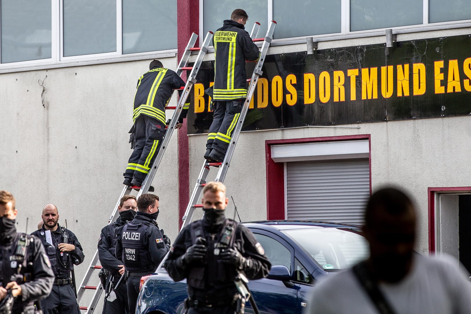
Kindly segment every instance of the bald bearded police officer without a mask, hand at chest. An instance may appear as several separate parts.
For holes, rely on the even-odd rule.
[[[44,314],[79,313],[71,272],[73,265],[83,262],[85,255],[72,231],[58,224],[56,205],[48,204],[42,209],[42,228],[31,233],[42,240],[56,276],[51,294],[42,302]],[[50,238],[49,238],[49,231]]]

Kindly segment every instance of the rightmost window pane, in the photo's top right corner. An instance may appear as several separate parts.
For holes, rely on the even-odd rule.
[[[469,0],[429,0],[429,22],[448,22],[471,19]]]

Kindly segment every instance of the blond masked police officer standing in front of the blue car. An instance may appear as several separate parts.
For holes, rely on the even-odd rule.
[[[187,313],[240,313],[245,296],[236,289],[237,272],[260,279],[271,268],[252,232],[225,217],[227,201],[222,183],[204,186],[203,219],[179,233],[165,262],[174,281],[187,279]]]

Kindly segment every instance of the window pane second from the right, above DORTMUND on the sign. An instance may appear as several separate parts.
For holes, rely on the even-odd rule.
[[[423,23],[423,0],[350,0],[350,31]]]

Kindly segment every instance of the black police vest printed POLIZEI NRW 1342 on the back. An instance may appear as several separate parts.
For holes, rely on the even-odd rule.
[[[122,227],[122,261],[129,272],[154,271],[157,265],[150,256],[149,248],[144,245],[144,233],[150,226],[156,226],[151,222],[134,225],[127,223]]]

